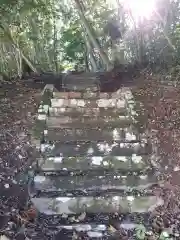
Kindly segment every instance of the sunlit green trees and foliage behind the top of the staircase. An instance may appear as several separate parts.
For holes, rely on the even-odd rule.
[[[92,43],[76,2],[101,50]],[[100,51],[113,58],[106,31],[112,18],[119,22],[127,61],[159,68],[180,64],[179,1],[157,0],[152,18],[143,21],[135,21],[119,0],[113,2],[117,4],[103,0],[0,0],[1,73],[20,75],[21,53],[32,66],[47,71],[66,65],[91,66],[94,61],[104,67]]]

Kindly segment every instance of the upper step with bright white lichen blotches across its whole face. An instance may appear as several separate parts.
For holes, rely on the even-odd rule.
[[[51,107],[126,108],[121,99],[51,99]]]

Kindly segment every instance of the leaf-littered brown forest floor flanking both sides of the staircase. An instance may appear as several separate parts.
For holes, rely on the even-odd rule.
[[[27,190],[16,181],[36,157],[31,145],[31,129],[36,118],[41,88],[13,83],[0,88],[0,231],[16,232],[20,210],[27,199]],[[161,215],[173,220],[180,216],[180,87],[165,86],[156,77],[137,79],[134,96],[144,103],[147,129],[157,146],[158,160],[164,166],[167,202]],[[11,213],[11,214],[10,214]],[[16,218],[17,217],[17,218]],[[16,221],[14,220],[16,219]],[[175,218],[174,218],[175,219]],[[178,224],[178,220],[176,221]],[[24,225],[23,225],[24,226]],[[5,234],[5,233],[4,233]],[[14,239],[25,239],[22,231]],[[29,238],[26,238],[29,239]],[[31,238],[36,239],[36,238]]]

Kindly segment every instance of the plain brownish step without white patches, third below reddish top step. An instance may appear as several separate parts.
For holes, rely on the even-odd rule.
[[[70,118],[70,117],[48,117],[47,128],[127,128],[133,124],[129,118],[103,118],[98,116]]]

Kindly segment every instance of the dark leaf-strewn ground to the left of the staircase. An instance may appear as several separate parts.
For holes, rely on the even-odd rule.
[[[27,199],[24,186],[16,175],[33,161],[35,150],[29,129],[34,123],[39,90],[17,83],[0,88],[0,230],[10,221],[10,213],[18,214]]]

